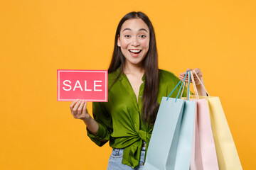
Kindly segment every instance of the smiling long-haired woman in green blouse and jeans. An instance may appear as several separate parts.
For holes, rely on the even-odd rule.
[[[203,81],[200,69],[195,70]],[[110,141],[107,169],[142,169],[161,98],[179,81],[158,68],[154,28],[144,13],[127,13],[119,22],[108,73],[108,102],[92,103],[92,118],[86,101],[75,100],[71,113],[85,122],[87,135],[97,145]],[[205,95],[201,85],[198,90]]]

